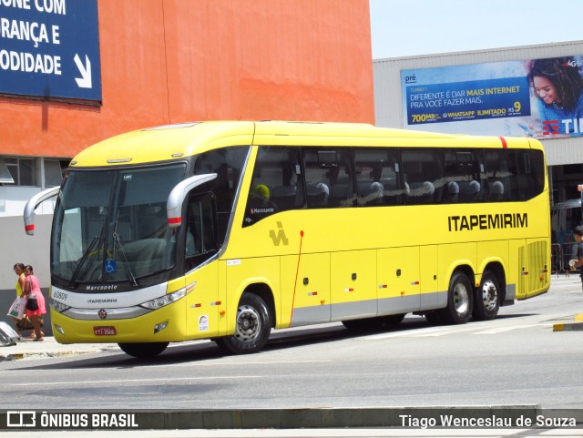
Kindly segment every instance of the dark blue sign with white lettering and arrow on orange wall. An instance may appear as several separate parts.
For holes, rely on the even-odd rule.
[[[97,0],[0,1],[0,93],[100,102]]]

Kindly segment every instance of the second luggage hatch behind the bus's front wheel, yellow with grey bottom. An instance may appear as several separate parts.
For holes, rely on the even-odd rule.
[[[332,321],[377,315],[376,250],[332,252]]]

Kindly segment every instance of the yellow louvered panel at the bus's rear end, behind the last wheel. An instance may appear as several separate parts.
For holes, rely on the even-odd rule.
[[[534,297],[548,289],[550,260],[546,240],[511,240],[510,254],[516,255],[510,257],[510,269],[516,273],[517,300]]]

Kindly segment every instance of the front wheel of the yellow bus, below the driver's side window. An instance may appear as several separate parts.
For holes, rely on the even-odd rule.
[[[249,354],[260,351],[270,338],[271,315],[260,296],[243,293],[237,309],[235,333],[217,338],[222,351],[230,354]]]

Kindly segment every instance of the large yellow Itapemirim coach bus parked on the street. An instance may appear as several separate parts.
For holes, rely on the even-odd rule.
[[[549,287],[549,197],[532,138],[363,124],[201,122],[75,157],[50,240],[56,341],[151,357],[272,329],[496,318]]]

